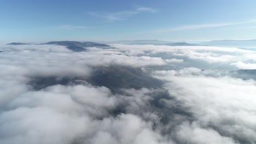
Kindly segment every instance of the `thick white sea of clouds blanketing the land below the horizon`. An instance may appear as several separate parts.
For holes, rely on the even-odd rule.
[[[86,49],[1,46],[0,143],[256,143],[255,51]]]

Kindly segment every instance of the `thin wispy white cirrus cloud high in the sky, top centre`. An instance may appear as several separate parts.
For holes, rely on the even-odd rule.
[[[89,13],[92,16],[97,16],[105,19],[106,21],[117,21],[122,20],[132,15],[140,13],[156,13],[156,9],[148,7],[139,7],[135,10],[117,11],[114,13]]]

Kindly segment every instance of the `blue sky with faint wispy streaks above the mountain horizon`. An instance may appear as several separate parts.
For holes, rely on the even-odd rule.
[[[3,0],[0,43],[256,39],[256,1]]]

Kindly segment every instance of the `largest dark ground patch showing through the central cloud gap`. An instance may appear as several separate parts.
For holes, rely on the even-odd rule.
[[[82,81],[89,82],[93,86],[104,86],[113,93],[117,93],[121,88],[160,88],[162,82],[145,74],[139,68],[132,67],[96,67],[89,77],[32,77],[28,85],[36,91],[53,85],[78,85]]]

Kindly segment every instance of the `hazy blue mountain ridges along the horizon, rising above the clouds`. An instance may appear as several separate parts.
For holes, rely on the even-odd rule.
[[[104,44],[100,44],[104,43]],[[168,46],[223,46],[223,47],[238,47],[240,49],[256,49],[256,39],[252,40],[212,40],[202,43],[190,44],[185,42],[172,42],[162,40],[118,40],[118,41],[101,41],[94,43],[91,41],[50,41],[43,44],[54,44],[67,46],[68,49],[73,51],[84,51],[85,47],[101,47],[109,48],[107,44],[126,44],[126,45],[168,45]],[[8,45],[27,45],[27,43],[10,43]]]

